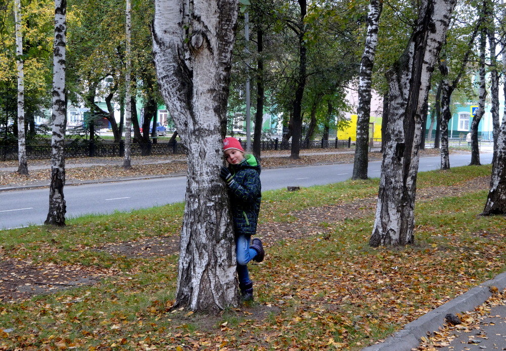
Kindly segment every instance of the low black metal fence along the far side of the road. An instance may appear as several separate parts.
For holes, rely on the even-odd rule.
[[[241,139],[239,139],[241,141]],[[243,146],[245,142],[241,141]],[[347,140],[301,140],[301,149],[307,148],[345,148],[351,147],[351,139]],[[291,141],[279,139],[262,140],[262,150],[289,150]],[[175,155],[184,154],[184,146],[180,142],[175,143],[133,143],[131,148],[132,156],[150,156],[150,155]],[[114,157],[124,156],[124,141],[113,144],[102,144],[93,141],[74,145],[69,143],[65,145],[66,158],[78,157]],[[29,160],[51,159],[50,145],[26,145],[26,156]],[[18,146],[0,146],[0,160],[17,160]]]

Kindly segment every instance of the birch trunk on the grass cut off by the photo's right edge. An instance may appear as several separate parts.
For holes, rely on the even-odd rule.
[[[503,22],[506,20],[506,9],[503,9],[502,20]],[[504,76],[506,74],[506,45],[504,43],[502,44],[502,67]],[[506,97],[506,85],[504,85],[504,96]],[[506,215],[506,110],[497,131],[490,191],[482,215]]]

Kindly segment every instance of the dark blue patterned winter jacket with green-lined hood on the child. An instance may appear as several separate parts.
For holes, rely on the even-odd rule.
[[[246,155],[240,164],[229,165],[228,169],[234,176],[228,193],[235,235],[253,235],[257,231],[260,199],[262,198],[260,164],[255,156]]]

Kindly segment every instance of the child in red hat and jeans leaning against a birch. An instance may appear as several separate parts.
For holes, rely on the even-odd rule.
[[[237,276],[243,301],[253,300],[253,281],[249,278],[249,261],[262,262],[262,240],[251,236],[257,232],[260,212],[260,164],[254,155],[244,153],[239,140],[223,140],[223,151],[228,167],[222,167],[220,177],[227,183],[230,209],[234,223],[237,252]],[[250,243],[251,240],[251,243]]]

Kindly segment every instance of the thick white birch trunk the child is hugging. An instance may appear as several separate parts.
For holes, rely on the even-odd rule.
[[[226,106],[237,0],[156,0],[154,61],[186,149],[177,307],[218,312],[238,304],[234,230],[224,165]]]

